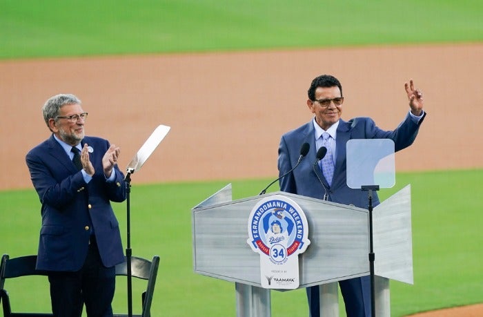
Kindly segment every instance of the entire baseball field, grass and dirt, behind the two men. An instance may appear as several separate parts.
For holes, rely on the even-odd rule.
[[[50,135],[43,102],[74,93],[86,133],[121,146],[121,170],[157,125],[171,126],[132,175],[133,253],[161,257],[152,316],[234,316],[234,285],[193,273],[190,209],[228,182],[236,199],[277,177],[279,137],[311,119],[313,77],[342,81],[344,119],[386,129],[408,111],[413,78],[428,115],[396,155],[395,188],[380,193],[411,184],[415,285],[391,284],[392,316],[482,316],[482,13],[446,0],[0,0],[0,253],[37,251],[24,157]],[[115,210],[125,229],[126,204]],[[12,305],[46,311],[45,287],[7,289]],[[32,300],[35,288],[43,297]],[[272,300],[273,316],[307,315],[303,289]]]

